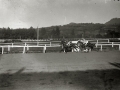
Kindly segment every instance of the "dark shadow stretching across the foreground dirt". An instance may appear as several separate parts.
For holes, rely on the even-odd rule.
[[[0,75],[0,90],[119,90],[120,70],[87,70]]]

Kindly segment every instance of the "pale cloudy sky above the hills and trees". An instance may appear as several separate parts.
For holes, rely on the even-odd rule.
[[[120,0],[0,0],[0,28],[106,23],[120,18]]]

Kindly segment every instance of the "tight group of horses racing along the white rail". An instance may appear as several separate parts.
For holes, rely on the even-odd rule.
[[[78,40],[76,43],[73,43],[72,41],[61,41],[62,49],[60,52],[91,52],[95,46],[95,44],[92,44],[90,42],[86,42],[85,40]]]

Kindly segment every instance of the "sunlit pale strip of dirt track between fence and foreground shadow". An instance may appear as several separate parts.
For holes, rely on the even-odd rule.
[[[90,53],[29,53],[3,54],[0,56],[0,73],[58,72],[71,70],[93,70],[115,68],[110,63],[120,63],[120,52]]]

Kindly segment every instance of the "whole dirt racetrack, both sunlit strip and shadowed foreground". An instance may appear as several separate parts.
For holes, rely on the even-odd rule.
[[[119,51],[0,55],[0,90],[119,88]]]

